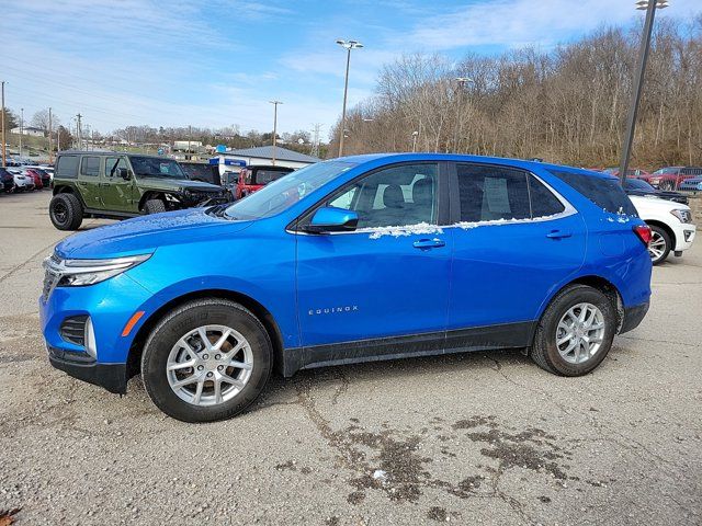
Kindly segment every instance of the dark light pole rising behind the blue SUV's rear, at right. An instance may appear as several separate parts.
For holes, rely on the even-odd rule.
[[[622,145],[622,157],[619,163],[619,179],[624,185],[626,180],[626,170],[629,170],[629,158],[634,144],[634,132],[636,128],[636,115],[638,114],[638,103],[641,102],[641,93],[644,88],[644,75],[646,72],[646,61],[648,60],[648,50],[650,49],[650,34],[654,28],[654,19],[656,9],[665,9],[668,7],[668,0],[638,0],[636,9],[646,10],[646,22],[644,23],[644,32],[641,35],[641,46],[638,48],[638,61],[636,67],[636,77],[634,78],[634,93],[632,94],[632,105],[629,108],[629,117],[626,119],[626,135]]]

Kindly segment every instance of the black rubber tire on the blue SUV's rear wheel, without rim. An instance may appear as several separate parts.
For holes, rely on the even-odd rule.
[[[574,364],[566,361],[556,345],[558,323],[574,306],[588,302],[602,312],[604,333],[600,348],[586,362]],[[556,295],[539,321],[531,357],[542,369],[559,376],[584,376],[591,373],[607,357],[619,324],[616,307],[600,290],[587,285],[571,285]]]

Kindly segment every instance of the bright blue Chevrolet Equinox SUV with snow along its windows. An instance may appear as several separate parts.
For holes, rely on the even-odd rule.
[[[403,153],[313,164],[235,204],[81,232],[45,261],[50,363],[230,418],[275,368],[523,348],[580,376],[650,296],[650,230],[607,174]]]

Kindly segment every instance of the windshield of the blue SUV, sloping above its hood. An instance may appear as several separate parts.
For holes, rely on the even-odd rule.
[[[279,214],[355,164],[326,161],[291,172],[225,210],[230,219],[261,219]]]

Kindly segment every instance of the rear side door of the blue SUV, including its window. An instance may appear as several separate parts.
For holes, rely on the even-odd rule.
[[[478,163],[453,168],[450,343],[471,346],[472,332],[461,342],[461,330],[498,325],[495,340],[484,344],[526,345],[544,300],[582,265],[585,222],[529,172]],[[458,331],[454,342],[451,331]]]

